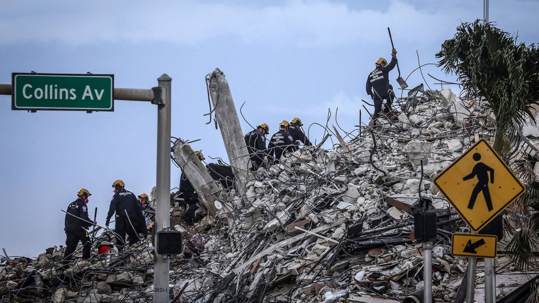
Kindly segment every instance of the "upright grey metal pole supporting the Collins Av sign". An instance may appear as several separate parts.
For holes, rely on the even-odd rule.
[[[155,208],[155,231],[170,226],[170,102],[171,81],[167,74],[157,79],[163,90],[163,105],[157,105],[157,199]],[[168,303],[170,260],[155,249],[154,303]]]

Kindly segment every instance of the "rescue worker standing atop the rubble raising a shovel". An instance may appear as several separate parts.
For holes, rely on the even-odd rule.
[[[383,101],[386,100],[384,113],[389,113],[395,93],[393,93],[393,86],[389,84],[389,72],[397,64],[397,50],[391,51],[391,62],[384,58],[376,60],[376,68],[367,77],[367,94],[370,95],[374,101],[374,115],[373,119],[376,123],[376,119],[382,111]]]

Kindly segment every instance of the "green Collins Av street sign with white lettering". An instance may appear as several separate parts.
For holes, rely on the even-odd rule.
[[[114,111],[112,74],[11,74],[11,109]]]

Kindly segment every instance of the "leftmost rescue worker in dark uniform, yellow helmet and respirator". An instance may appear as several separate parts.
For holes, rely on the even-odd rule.
[[[82,243],[82,259],[90,258],[92,243],[87,229],[92,226],[92,221],[88,218],[86,203],[88,203],[88,197],[91,195],[87,189],[81,188],[77,192],[78,198],[67,206],[64,228],[66,232],[66,250],[62,261],[64,265],[69,264],[73,257],[73,252],[77,250],[79,241]]]

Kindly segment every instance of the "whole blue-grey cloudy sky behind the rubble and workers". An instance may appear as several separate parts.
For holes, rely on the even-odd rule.
[[[226,153],[206,125],[204,77],[219,67],[252,125],[300,117],[306,126],[358,124],[365,80],[390,58],[391,27],[403,77],[452,38],[461,22],[482,18],[482,1],[8,1],[0,10],[0,83],[12,72],[107,73],[116,87],[151,88],[172,78],[172,136],[208,156]],[[537,1],[490,1],[490,20],[537,42]],[[426,73],[451,80],[439,68]],[[397,78],[397,71],[390,74]],[[426,79],[432,88],[432,78]],[[410,87],[425,82],[414,72]],[[393,81],[396,86],[396,81]],[[458,89],[458,88],[455,88]],[[65,242],[64,213],[87,188],[91,216],[103,224],[121,178],[136,195],[155,185],[156,106],[116,101],[114,112],[11,111],[0,96],[0,248],[34,257]],[[370,108],[372,112],[372,109]],[[368,115],[364,114],[363,121]],[[241,121],[243,132],[250,130]],[[322,130],[310,129],[312,141]],[[328,142],[329,146],[331,142]],[[180,171],[172,166],[171,188]]]

